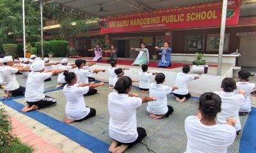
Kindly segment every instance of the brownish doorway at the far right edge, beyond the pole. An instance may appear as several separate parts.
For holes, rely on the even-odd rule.
[[[256,36],[241,36],[238,57],[238,66],[256,67]]]

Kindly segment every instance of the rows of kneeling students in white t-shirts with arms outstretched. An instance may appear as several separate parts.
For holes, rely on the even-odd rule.
[[[188,81],[199,78],[189,75],[189,66],[183,66],[182,72],[177,75],[175,85],[169,87],[163,84],[163,73],[150,73],[147,71],[147,65],[143,65],[139,74],[140,91],[149,92],[149,96],[139,98],[138,94],[130,93],[134,81],[124,76],[124,69],[116,68],[116,61],[110,61],[110,64],[112,76],[109,71],[109,86],[114,89],[108,96],[109,136],[113,139],[109,147],[110,152],[124,152],[147,136],[145,129],[137,128],[136,108],[142,103],[148,103],[147,112],[152,119],[168,117],[173,108],[167,103],[167,95],[173,92],[176,100],[181,103],[188,100],[191,97],[186,87]],[[70,65],[71,68],[77,67],[75,72],[68,71],[70,67],[46,70],[45,66],[48,64],[40,59],[33,61],[30,68],[13,66],[11,57],[3,58],[0,74],[4,90],[10,91],[14,96],[22,92],[25,94],[27,105],[22,108],[22,112],[56,105],[56,99],[45,96],[44,81],[52,75],[59,75],[60,78],[64,76],[65,80],[65,83],[61,84],[64,86],[63,93],[67,99],[67,117],[64,122],[72,123],[95,116],[96,110],[86,106],[84,96],[95,94],[95,88],[104,83],[89,82],[88,77],[91,77],[92,73],[105,70],[90,70],[83,59],[77,59],[75,64]],[[68,66],[67,59],[61,60],[61,66]],[[15,73],[18,71],[30,71],[26,89],[16,80]],[[116,76],[113,75],[113,71]],[[150,83],[152,75],[156,75],[154,83]],[[250,92],[255,88],[255,84],[248,82],[250,76],[248,71],[239,71],[239,82],[233,78],[225,78],[221,83],[220,92],[207,92],[200,96],[200,113],[185,120],[185,131],[188,136],[186,152],[227,152],[227,147],[234,142],[241,130],[239,112],[240,115],[250,112]]]

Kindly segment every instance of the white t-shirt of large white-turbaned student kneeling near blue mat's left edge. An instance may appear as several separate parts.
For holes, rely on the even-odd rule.
[[[26,83],[25,100],[28,102],[36,102],[45,98],[44,80],[51,76],[51,72],[40,73],[38,71],[31,71]]]

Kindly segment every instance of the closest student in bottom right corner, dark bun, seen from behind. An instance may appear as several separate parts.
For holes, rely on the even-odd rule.
[[[224,124],[216,123],[221,98],[212,92],[200,96],[198,109],[198,115],[185,120],[188,143],[184,153],[226,153],[236,138],[236,120],[228,118]]]

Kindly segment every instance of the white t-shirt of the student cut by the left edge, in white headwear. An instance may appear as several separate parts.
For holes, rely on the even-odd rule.
[[[14,91],[19,89],[20,85],[17,82],[15,73],[18,72],[17,68],[12,68],[10,66],[2,66],[0,73],[3,79],[4,90]]]

